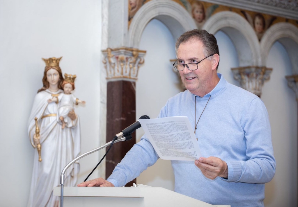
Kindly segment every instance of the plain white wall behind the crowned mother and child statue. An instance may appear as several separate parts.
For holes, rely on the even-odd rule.
[[[43,58],[60,57],[63,73],[77,75],[75,95],[81,120],[81,152],[99,146],[101,1],[0,1],[0,179],[1,206],[27,206],[33,153],[27,121],[42,87]],[[81,160],[78,182],[99,161]],[[97,177],[97,172],[93,173]]]

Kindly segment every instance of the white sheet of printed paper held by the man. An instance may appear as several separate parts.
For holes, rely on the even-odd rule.
[[[140,119],[139,122],[161,159],[193,161],[201,157],[187,117]]]

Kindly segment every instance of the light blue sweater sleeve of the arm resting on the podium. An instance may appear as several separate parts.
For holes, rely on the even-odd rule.
[[[164,106],[158,118],[167,116],[167,104]],[[114,186],[124,186],[134,178],[138,177],[144,170],[153,165],[159,156],[155,152],[149,139],[143,135],[140,142],[136,143],[124,158],[115,167],[107,181]]]

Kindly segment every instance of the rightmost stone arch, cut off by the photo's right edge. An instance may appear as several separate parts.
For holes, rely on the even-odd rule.
[[[276,23],[266,30],[261,39],[262,64],[266,65],[272,45],[279,41],[288,52],[293,74],[298,73],[298,28],[291,23]]]

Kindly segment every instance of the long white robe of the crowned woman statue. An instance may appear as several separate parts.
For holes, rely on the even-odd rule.
[[[57,115],[58,104],[48,103],[53,95],[63,95],[63,90],[51,92],[49,89],[39,92],[34,99],[29,118],[28,133],[32,145],[35,134],[35,120],[38,118],[41,143],[41,159],[35,150],[32,181],[28,207],[58,206],[58,196],[53,196],[53,187],[60,186],[63,168],[80,153],[80,123],[71,121],[62,129]],[[49,115],[47,117],[44,117]],[[42,118],[43,117],[43,118]],[[79,163],[73,164],[65,173],[64,186],[75,186]]]

